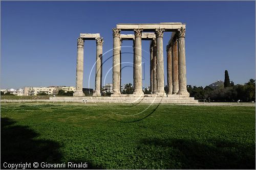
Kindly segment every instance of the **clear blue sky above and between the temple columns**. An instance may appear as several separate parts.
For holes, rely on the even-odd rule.
[[[112,28],[159,22],[186,23],[187,84],[224,81],[225,69],[235,84],[255,79],[254,1],[1,1],[1,88],[75,86],[79,33],[104,38],[103,82],[112,83]],[[164,33],[164,47],[170,34]],[[123,41],[122,62],[133,62],[132,44]],[[150,85],[149,46],[142,42],[144,86]],[[95,58],[95,41],[86,41],[84,87],[94,88]],[[166,80],[165,48],[164,61]],[[133,82],[132,70],[123,69],[122,84]]]

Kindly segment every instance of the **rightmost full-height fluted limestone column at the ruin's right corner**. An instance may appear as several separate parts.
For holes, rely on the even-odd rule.
[[[185,57],[185,29],[178,29],[178,65],[179,65],[179,91],[177,94],[189,96],[186,80]]]

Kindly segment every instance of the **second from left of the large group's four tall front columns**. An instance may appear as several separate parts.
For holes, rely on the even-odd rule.
[[[135,59],[134,59],[134,92],[135,95],[144,94],[142,91],[142,50],[141,50],[141,35],[142,29],[134,30],[135,34]]]

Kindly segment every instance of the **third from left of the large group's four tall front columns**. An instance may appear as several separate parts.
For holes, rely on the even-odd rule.
[[[156,29],[157,38],[157,95],[166,96],[164,92],[164,66],[163,66],[163,32],[164,29]]]

